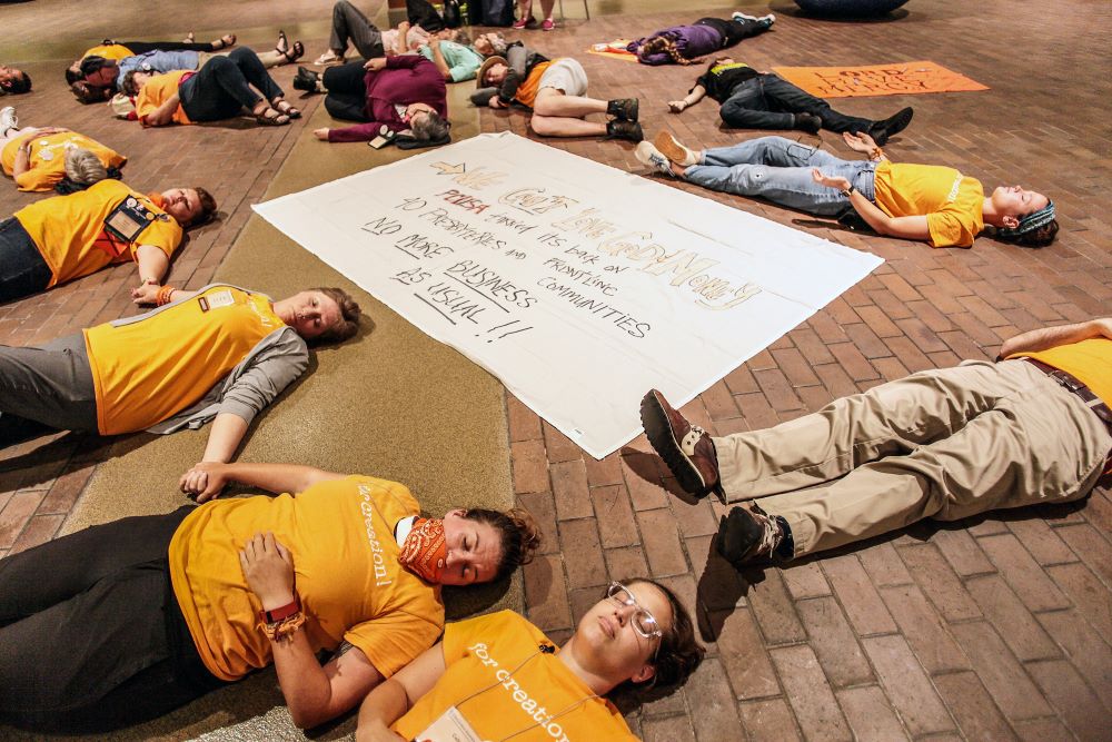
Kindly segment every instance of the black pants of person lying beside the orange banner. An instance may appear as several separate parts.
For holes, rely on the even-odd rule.
[[[875,123],[840,113],[822,98],[768,72],[734,86],[718,113],[728,126],[738,129],[791,129],[795,127],[796,113],[814,113],[828,131],[866,131]]]

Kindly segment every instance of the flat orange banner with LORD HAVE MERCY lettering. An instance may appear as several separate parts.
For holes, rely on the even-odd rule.
[[[862,67],[774,67],[773,71],[820,98],[989,89],[964,75],[926,61]]]

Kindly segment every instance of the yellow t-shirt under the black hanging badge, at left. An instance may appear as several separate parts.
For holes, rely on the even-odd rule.
[[[155,215],[133,245],[105,231],[105,219],[129,196]],[[52,276],[47,288],[88,276],[113,263],[133,260],[140,245],[157,247],[169,257],[181,244],[181,226],[149,198],[119,180],[101,180],[69,196],[43,198],[13,216],[50,267]]]

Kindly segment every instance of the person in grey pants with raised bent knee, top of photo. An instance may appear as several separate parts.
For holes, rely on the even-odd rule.
[[[423,6],[428,8],[423,9]],[[445,28],[443,21],[431,23],[430,19],[439,13],[427,0],[407,0],[409,20],[398,23],[396,29],[380,31],[377,26],[363,14],[348,0],[337,0],[332,6],[332,31],[328,41],[328,51],[320,55],[312,63],[342,65],[347,56],[348,44],[355,47],[364,60],[376,57],[393,57],[417,51],[433,39],[457,41],[461,31]],[[424,23],[428,23],[425,26]],[[430,28],[430,26],[433,28]]]

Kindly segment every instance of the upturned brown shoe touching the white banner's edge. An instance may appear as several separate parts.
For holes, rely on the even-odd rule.
[[[711,436],[688,423],[656,389],[641,400],[641,424],[684,492],[701,497],[719,489],[718,457]]]

